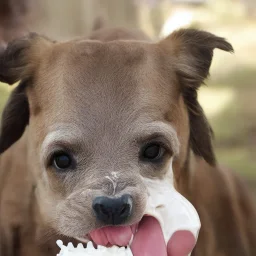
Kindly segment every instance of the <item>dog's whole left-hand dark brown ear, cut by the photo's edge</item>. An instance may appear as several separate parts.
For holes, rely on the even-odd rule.
[[[0,153],[22,136],[29,122],[29,103],[25,87],[31,83],[34,69],[39,63],[39,54],[49,42],[31,33],[9,43],[0,54],[0,81],[8,84],[21,81],[11,93],[2,113]]]

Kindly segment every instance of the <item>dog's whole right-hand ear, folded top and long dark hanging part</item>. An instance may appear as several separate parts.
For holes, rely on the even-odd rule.
[[[197,100],[197,89],[209,75],[213,50],[233,52],[233,47],[224,38],[195,29],[175,31],[160,44],[168,51],[188,108],[190,146],[196,155],[214,165],[213,132]]]

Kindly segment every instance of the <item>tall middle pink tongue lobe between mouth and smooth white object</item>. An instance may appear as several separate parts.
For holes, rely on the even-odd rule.
[[[163,232],[155,218],[142,219],[131,249],[134,256],[167,256]]]

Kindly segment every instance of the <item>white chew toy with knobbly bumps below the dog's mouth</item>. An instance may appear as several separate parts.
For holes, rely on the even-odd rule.
[[[60,247],[57,256],[132,256],[130,248],[119,248],[118,246],[107,248],[98,245],[98,248],[95,249],[92,242],[87,243],[87,248],[84,248],[81,243],[77,247],[74,247],[72,243],[65,246],[61,240],[57,241],[57,245]]]

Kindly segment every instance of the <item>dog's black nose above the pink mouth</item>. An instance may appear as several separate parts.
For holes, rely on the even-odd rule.
[[[119,198],[96,197],[92,207],[98,220],[104,224],[119,225],[131,215],[132,197],[130,195]]]

